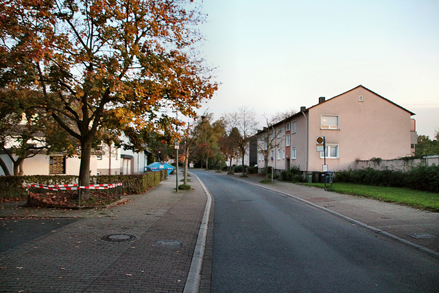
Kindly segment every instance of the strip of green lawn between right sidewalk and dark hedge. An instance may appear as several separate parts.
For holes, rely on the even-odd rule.
[[[301,183],[303,185],[324,188],[324,183]],[[418,191],[408,188],[380,187],[372,185],[359,185],[354,183],[333,183],[327,184],[329,191],[340,194],[352,194],[375,198],[385,202],[396,202],[418,209],[439,212],[439,194],[427,191]]]

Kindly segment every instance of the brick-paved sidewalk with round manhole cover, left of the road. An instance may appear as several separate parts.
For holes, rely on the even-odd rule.
[[[3,207],[1,217],[80,220],[1,253],[0,292],[182,292],[206,206],[198,180],[191,186],[176,193],[169,176],[101,211]]]

